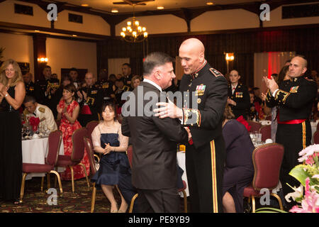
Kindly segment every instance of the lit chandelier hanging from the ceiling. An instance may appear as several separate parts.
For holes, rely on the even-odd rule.
[[[133,20],[128,21],[126,27],[122,28],[121,36],[129,43],[140,43],[147,38],[147,31],[145,27],[140,26],[140,21],[137,21],[134,14],[133,5]]]

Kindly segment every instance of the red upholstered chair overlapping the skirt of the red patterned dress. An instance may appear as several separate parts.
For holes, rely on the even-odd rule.
[[[84,136],[87,135],[86,128],[79,128],[72,134],[72,154],[69,155],[59,155],[57,158],[56,167],[69,167],[72,175],[72,192],[74,192],[74,172],[73,167],[75,165],[81,165],[84,169],[87,187],[90,187],[89,178],[86,174],[86,168],[84,164],[81,163],[81,160],[84,157]]]

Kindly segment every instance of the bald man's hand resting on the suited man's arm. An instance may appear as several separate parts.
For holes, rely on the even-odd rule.
[[[157,114],[155,116],[158,116],[159,118],[182,118],[183,117],[183,110],[175,106],[172,101],[169,100],[169,102],[158,102],[156,104],[157,106],[162,106],[160,108],[154,109],[153,111]]]

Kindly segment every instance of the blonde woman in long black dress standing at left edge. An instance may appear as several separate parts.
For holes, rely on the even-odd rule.
[[[0,199],[18,204],[22,177],[21,116],[26,96],[18,63],[6,60],[0,69]]]

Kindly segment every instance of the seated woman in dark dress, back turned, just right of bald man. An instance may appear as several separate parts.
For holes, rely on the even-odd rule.
[[[223,176],[223,206],[225,213],[242,213],[245,187],[252,182],[254,145],[245,126],[233,119],[230,106],[226,105],[223,121],[223,137],[226,162]]]

